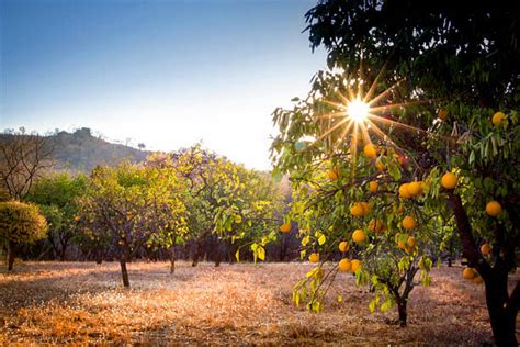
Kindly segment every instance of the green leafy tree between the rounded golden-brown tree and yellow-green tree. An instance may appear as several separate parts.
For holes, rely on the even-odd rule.
[[[54,253],[65,260],[67,247],[78,234],[78,198],[87,188],[87,177],[66,172],[53,174],[38,179],[27,200],[36,203],[48,225],[47,239]]]

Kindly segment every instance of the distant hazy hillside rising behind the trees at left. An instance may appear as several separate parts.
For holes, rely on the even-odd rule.
[[[0,134],[0,139],[10,141],[20,134]],[[100,137],[92,136],[90,128],[83,127],[74,133],[57,132],[46,136],[46,144],[53,146],[54,168],[90,172],[97,165],[117,165],[124,159],[138,163],[150,154],[121,144],[113,144]]]

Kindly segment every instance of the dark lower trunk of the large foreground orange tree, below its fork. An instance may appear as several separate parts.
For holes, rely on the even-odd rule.
[[[516,336],[518,303],[508,305],[507,280],[506,272],[486,281],[487,311],[497,346],[518,346]]]

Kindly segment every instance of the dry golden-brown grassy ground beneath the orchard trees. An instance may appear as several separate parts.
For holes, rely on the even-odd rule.
[[[133,288],[121,286],[118,264],[37,262],[0,271],[0,344],[466,344],[490,343],[484,287],[462,269],[433,270],[433,284],[416,288],[409,326],[396,311],[370,314],[371,294],[341,273],[319,314],[291,302],[304,264],[166,262],[129,265]],[[342,293],[344,301],[335,298]]]

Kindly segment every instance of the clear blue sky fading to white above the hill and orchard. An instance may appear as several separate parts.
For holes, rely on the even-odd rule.
[[[307,0],[1,2],[0,127],[90,127],[270,167],[271,112],[305,96]]]

